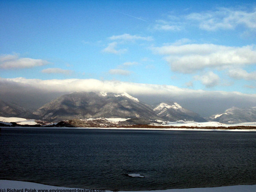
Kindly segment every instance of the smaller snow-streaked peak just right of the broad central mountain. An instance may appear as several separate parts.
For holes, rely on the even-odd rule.
[[[199,114],[189,111],[183,108],[176,102],[167,103],[162,102],[155,106],[154,112],[167,121],[177,121],[177,120],[194,120],[197,122],[206,121]]]

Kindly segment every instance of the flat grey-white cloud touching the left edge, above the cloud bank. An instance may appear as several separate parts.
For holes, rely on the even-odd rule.
[[[35,66],[47,65],[46,60],[36,60],[31,58],[19,58],[18,55],[2,55],[0,56],[0,68],[32,68]]]

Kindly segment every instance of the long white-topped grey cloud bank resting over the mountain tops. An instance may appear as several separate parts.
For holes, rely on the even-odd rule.
[[[73,92],[129,93],[149,104],[176,101],[202,116],[220,113],[229,107],[256,106],[255,94],[203,91],[168,85],[139,84],[97,79],[2,79],[0,99],[22,106],[39,108],[57,96]]]

